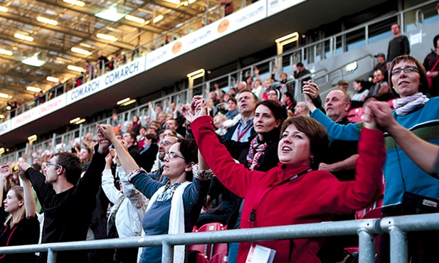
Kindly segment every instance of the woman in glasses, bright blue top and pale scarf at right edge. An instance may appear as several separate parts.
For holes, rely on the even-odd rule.
[[[391,63],[389,75],[391,92],[398,95],[393,104],[393,118],[398,124],[432,144],[439,144],[439,99],[430,100],[425,96],[428,80],[423,65],[411,55],[396,57]],[[318,87],[309,83],[303,92],[310,97],[318,95]],[[307,98],[311,117],[324,125],[333,140],[358,140],[362,123],[339,125],[316,109]],[[409,215],[415,213],[439,212],[439,181],[425,173],[398,144],[388,136],[386,138],[386,164],[384,166],[386,190],[384,194],[384,216]],[[414,195],[421,195],[418,198]],[[431,199],[435,205],[423,205],[423,200]],[[428,201],[428,202],[430,202]],[[428,203],[427,202],[427,203]],[[418,207],[411,204],[421,203]],[[425,203],[425,202],[424,202]],[[412,262],[435,262],[435,248],[439,246],[437,232],[412,232],[408,234],[409,255]],[[379,262],[388,262],[388,238],[381,237]],[[425,260],[425,261],[423,261]]]

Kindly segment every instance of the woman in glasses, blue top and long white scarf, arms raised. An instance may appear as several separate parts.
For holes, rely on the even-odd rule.
[[[198,220],[203,201],[211,184],[212,172],[200,159],[194,140],[179,139],[164,157],[163,176],[167,183],[150,178],[135,163],[116,138],[110,125],[98,126],[102,134],[115,146],[122,168],[137,190],[149,198],[142,220],[145,235],[182,234],[191,232]],[[162,247],[144,247],[140,262],[161,262]],[[174,248],[174,262],[184,262],[184,246]]]

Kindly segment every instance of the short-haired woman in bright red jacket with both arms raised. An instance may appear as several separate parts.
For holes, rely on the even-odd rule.
[[[366,114],[370,111],[366,109]],[[324,127],[310,117],[292,117],[282,125],[277,149],[280,163],[268,172],[249,171],[233,161],[216,137],[202,97],[194,97],[182,113],[201,155],[213,173],[233,193],[245,198],[241,228],[322,222],[337,213],[353,213],[379,197],[385,160],[384,136],[373,121],[361,130],[355,181],[337,181],[331,173],[313,171],[329,139]],[[370,118],[373,119],[373,118]],[[221,158],[219,158],[221,156]],[[321,238],[253,242],[275,249],[274,262],[320,262]],[[245,262],[251,242],[240,243],[238,262]]]

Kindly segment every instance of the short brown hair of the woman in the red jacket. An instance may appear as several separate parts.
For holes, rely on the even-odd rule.
[[[319,124],[319,122],[311,117],[296,116],[288,118],[283,122],[282,129],[280,130],[281,136],[290,124],[294,124],[297,130],[303,132],[310,140],[310,152],[314,156],[311,167],[313,169],[318,168],[329,146],[327,130],[324,129],[322,124]]]

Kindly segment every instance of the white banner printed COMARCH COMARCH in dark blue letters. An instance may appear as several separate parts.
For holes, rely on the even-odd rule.
[[[67,105],[107,89],[119,82],[129,79],[145,70],[145,56],[116,68],[67,92]]]

